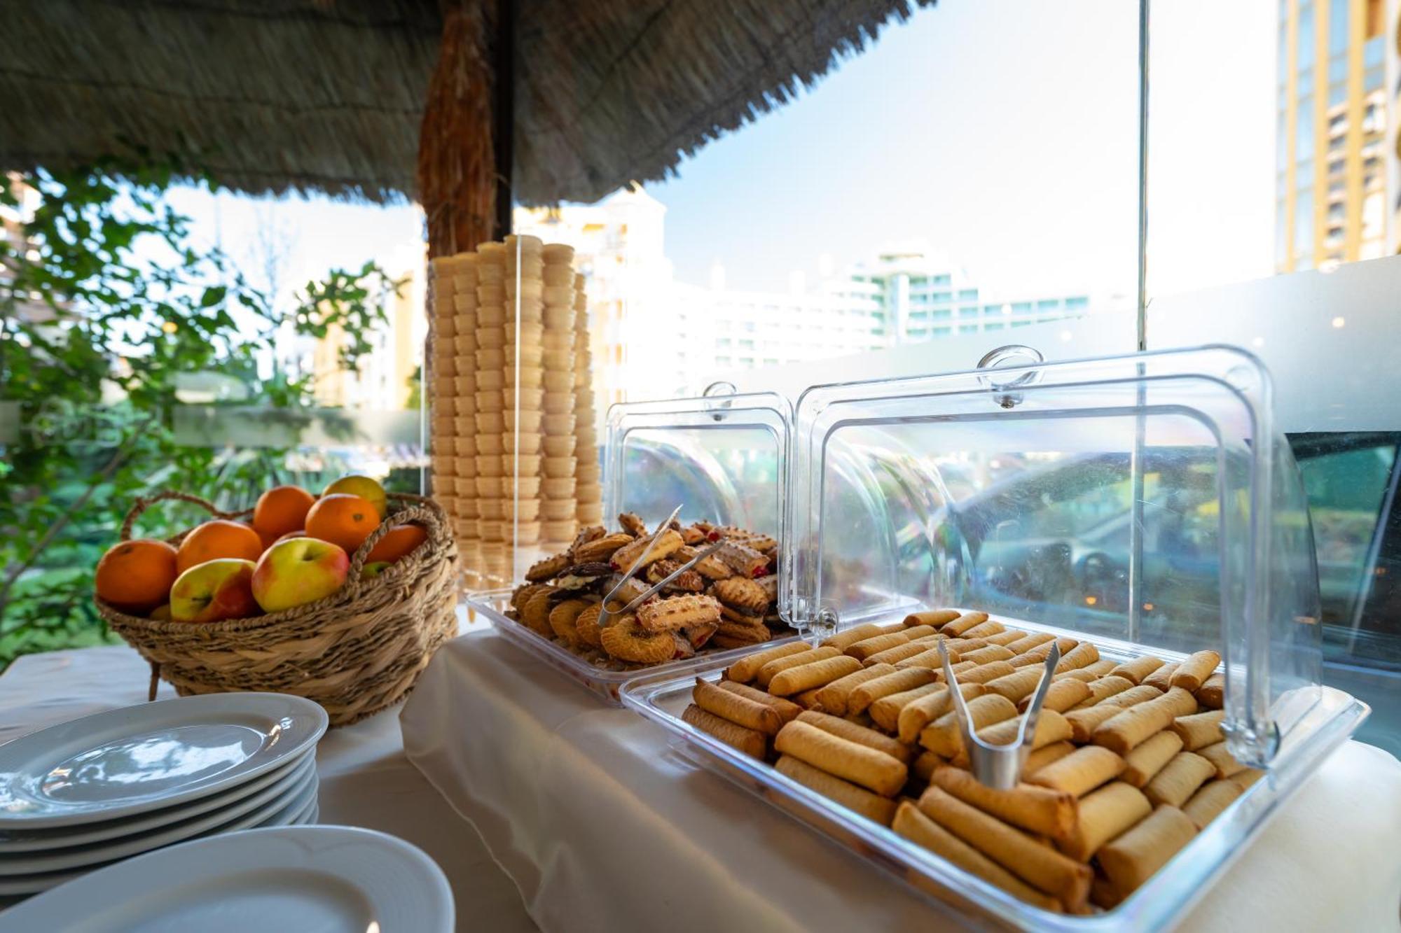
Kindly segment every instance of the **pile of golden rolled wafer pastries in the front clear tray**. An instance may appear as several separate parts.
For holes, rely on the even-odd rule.
[[[981,738],[1010,744],[1058,642],[1021,783],[968,770],[937,643]],[[1226,751],[1220,657],[1101,658],[985,612],[916,612],[696,678],[682,719],[1048,911],[1112,908],[1262,772]]]

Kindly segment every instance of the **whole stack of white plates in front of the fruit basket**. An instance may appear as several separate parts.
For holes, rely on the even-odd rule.
[[[0,895],[150,849],[315,822],[326,713],[283,693],[116,709],[0,745]]]

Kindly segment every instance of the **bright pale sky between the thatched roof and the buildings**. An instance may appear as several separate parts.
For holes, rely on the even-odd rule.
[[[1152,24],[1149,283],[1187,291],[1272,272],[1274,0],[1159,0]],[[941,0],[811,91],[647,191],[682,282],[786,290],[922,242],[993,297],[1132,296],[1138,4]],[[413,207],[172,195],[196,230],[291,283],[420,255]]]

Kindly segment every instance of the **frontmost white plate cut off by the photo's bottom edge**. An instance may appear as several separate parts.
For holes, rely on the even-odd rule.
[[[251,829],[149,852],[0,913],[0,933],[448,933],[453,892],[423,852],[350,827]]]

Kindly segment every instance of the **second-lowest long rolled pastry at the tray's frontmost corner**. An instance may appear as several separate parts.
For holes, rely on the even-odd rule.
[[[1047,848],[1021,829],[930,786],[919,797],[919,811],[981,850],[1023,881],[1058,898],[1075,911],[1090,895],[1090,867]]]

